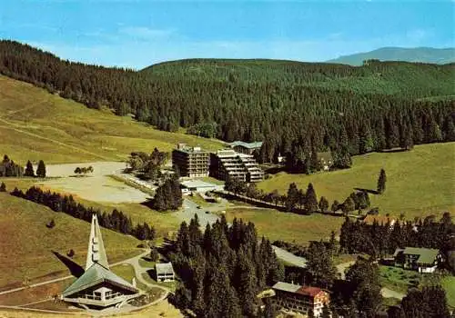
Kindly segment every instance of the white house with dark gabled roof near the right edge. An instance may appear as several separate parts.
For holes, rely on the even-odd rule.
[[[393,253],[395,265],[419,273],[434,273],[441,256],[440,251],[431,248],[406,247],[398,248]]]

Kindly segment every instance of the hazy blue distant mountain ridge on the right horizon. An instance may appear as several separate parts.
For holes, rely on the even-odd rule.
[[[455,62],[455,48],[433,47],[381,47],[377,50],[354,55],[343,55],[329,60],[329,63],[339,63],[359,66],[364,60],[378,59],[380,61],[405,61],[431,64],[449,64]]]

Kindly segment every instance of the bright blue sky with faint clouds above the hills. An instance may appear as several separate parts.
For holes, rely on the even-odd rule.
[[[325,61],[453,47],[454,1],[1,0],[0,38],[97,65],[191,57]]]

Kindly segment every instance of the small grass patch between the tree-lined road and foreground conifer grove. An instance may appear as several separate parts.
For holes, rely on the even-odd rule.
[[[344,218],[322,214],[299,215],[267,209],[227,210],[227,222],[234,218],[255,224],[259,236],[306,245],[310,240],[329,239],[331,231],[338,232]]]

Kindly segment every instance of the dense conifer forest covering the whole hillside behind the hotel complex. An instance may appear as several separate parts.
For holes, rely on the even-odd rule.
[[[316,151],[343,165],[349,154],[455,140],[453,64],[183,60],[134,72],[0,41],[0,73],[159,129],[263,140],[261,160],[287,154],[306,171]]]

